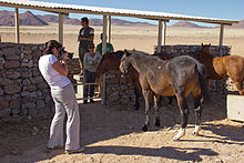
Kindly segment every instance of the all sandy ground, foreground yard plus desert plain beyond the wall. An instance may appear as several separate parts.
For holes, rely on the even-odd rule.
[[[77,53],[77,33],[80,27],[64,26],[64,45]],[[102,28],[95,27],[95,44]],[[58,27],[21,27],[21,42],[43,43],[58,39]],[[218,29],[169,28],[166,44],[218,43]],[[244,29],[225,29],[224,44],[232,45],[232,54],[244,55]],[[149,53],[156,44],[157,28],[113,27],[115,50],[138,49]],[[14,29],[0,27],[4,42],[14,41]],[[63,150],[45,153],[45,143],[52,114],[39,116],[4,116],[0,119],[0,162],[244,162],[243,123],[226,119],[225,99],[212,94],[212,104],[203,111],[200,136],[192,135],[194,113],[191,111],[186,135],[179,142],[171,139],[177,133],[180,113],[176,104],[160,109],[161,128],[142,132],[143,109],[104,106],[100,102],[81,104],[82,154],[63,154]]]

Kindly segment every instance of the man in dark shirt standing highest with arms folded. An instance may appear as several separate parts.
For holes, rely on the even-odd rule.
[[[93,43],[94,29],[89,27],[89,20],[87,17],[81,18],[81,26],[82,26],[82,28],[79,31],[78,41],[80,41],[79,59],[80,59],[80,67],[81,67],[81,74],[82,74],[83,73],[84,53],[89,52],[89,44]]]

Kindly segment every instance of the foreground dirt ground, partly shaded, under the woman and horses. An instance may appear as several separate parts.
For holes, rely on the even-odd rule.
[[[149,132],[141,130],[143,109],[104,106],[99,101],[79,106],[84,153],[45,153],[52,114],[6,116],[0,120],[0,162],[244,162],[244,125],[226,119],[225,100],[215,94],[203,110],[200,135],[192,135],[195,121],[191,110],[186,135],[176,142],[172,141],[180,124],[176,103],[167,106],[163,102],[161,126],[154,126],[152,116]]]

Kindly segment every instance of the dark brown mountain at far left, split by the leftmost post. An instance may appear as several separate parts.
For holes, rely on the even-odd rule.
[[[14,24],[13,11],[0,11],[0,26],[13,27]],[[48,23],[27,11],[20,14],[20,26],[48,26]]]

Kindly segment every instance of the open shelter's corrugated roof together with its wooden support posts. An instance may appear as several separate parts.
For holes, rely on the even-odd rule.
[[[10,7],[16,9],[16,42],[20,42],[20,29],[19,29],[19,9],[31,9],[52,12],[59,14],[59,41],[63,42],[63,16],[69,13],[87,13],[87,14],[100,14],[103,16],[103,43],[102,53],[105,53],[105,41],[106,33],[109,42],[111,41],[111,17],[131,17],[148,20],[155,20],[159,22],[159,35],[157,35],[157,51],[161,51],[161,45],[166,43],[166,22],[170,20],[185,20],[204,23],[220,24],[220,45],[223,44],[224,26],[232,26],[238,23],[236,20],[227,19],[215,19],[204,17],[193,17],[185,14],[174,14],[166,12],[154,12],[154,11],[141,11],[141,10],[126,10],[126,9],[114,9],[114,8],[101,8],[101,7],[88,7],[77,4],[64,4],[64,3],[52,3],[33,0],[0,0],[0,6]]]

